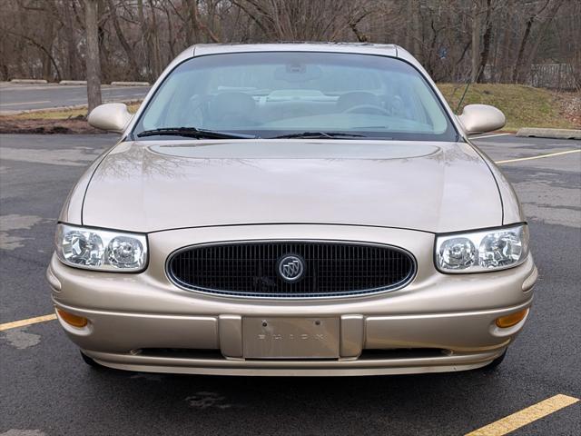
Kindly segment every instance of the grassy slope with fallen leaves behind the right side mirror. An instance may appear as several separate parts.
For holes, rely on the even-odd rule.
[[[438,84],[439,90],[456,110],[466,84]],[[576,125],[562,114],[560,94],[522,84],[471,84],[458,114],[467,104],[490,104],[507,117],[507,130],[521,127],[574,129]]]

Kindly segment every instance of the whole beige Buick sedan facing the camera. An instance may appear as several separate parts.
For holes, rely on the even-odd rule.
[[[517,197],[396,45],[196,45],[64,204],[47,270],[84,361],[362,375],[495,366],[537,269]]]

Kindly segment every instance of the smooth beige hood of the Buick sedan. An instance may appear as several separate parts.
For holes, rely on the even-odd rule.
[[[134,232],[337,223],[453,232],[502,223],[497,184],[464,143],[142,141],[96,168],[84,225]]]

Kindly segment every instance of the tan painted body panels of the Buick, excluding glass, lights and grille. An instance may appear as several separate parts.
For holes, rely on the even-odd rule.
[[[198,45],[168,66],[144,103],[194,51],[283,50],[399,57],[433,85],[421,65],[395,45]],[[486,365],[526,322],[507,329],[495,325],[498,316],[530,306],[537,269],[529,255],[505,271],[436,270],[434,233],[525,221],[510,184],[468,143],[444,105],[466,142],[121,142],[87,170],[60,221],[146,232],[149,264],[138,274],[94,272],[65,266],[54,256],[47,277],[55,306],[89,320],[79,329],[59,318],[64,331],[96,362],[135,371],[361,375]],[[245,239],[387,243],[412,253],[418,271],[394,292],[296,301],[185,291],[166,274],[167,256],[176,249]],[[340,359],[244,360],[244,316],[336,316]],[[142,352],[152,348],[193,351],[180,358]],[[434,352],[390,354],[408,348]],[[196,349],[215,354],[199,355]],[[369,357],[370,349],[385,354]]]

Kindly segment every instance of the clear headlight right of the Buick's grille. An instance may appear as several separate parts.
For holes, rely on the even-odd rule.
[[[527,255],[526,224],[436,237],[436,267],[441,272],[502,270],[525,262]]]

